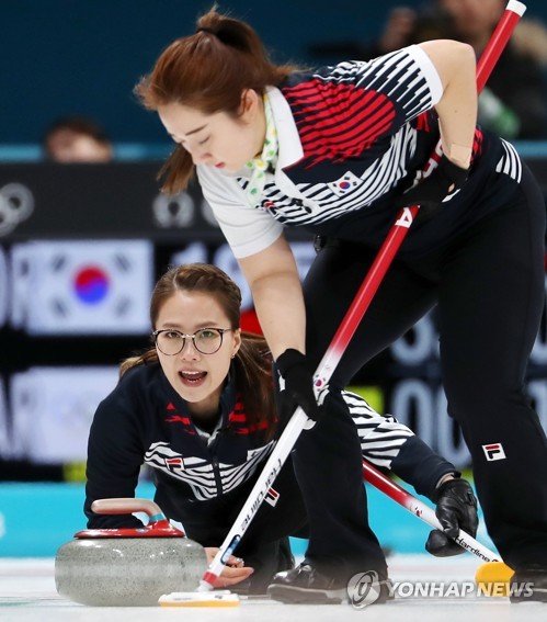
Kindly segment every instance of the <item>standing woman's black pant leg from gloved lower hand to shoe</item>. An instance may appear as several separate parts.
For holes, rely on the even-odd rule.
[[[306,558],[343,583],[366,570],[386,577],[384,553],[368,527],[355,423],[340,394],[329,397],[327,410],[311,430],[301,432],[293,453],[308,513]]]

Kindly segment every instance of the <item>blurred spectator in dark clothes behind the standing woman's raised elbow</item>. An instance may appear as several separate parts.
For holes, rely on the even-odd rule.
[[[376,41],[321,43],[310,53],[368,59],[412,43],[455,38],[471,45],[479,57],[505,5],[506,0],[431,0],[418,11],[397,8]],[[505,138],[545,138],[546,82],[547,29],[523,19],[479,98],[479,123]]]

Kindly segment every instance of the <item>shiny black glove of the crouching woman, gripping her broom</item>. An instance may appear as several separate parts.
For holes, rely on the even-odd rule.
[[[433,530],[425,550],[436,557],[459,555],[464,549],[452,539],[457,536],[459,530],[475,538],[479,525],[477,499],[469,482],[448,479],[435,489],[432,501],[436,504],[435,514],[444,531]]]

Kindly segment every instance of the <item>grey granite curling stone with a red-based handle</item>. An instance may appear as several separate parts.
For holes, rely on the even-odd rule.
[[[88,529],[57,551],[55,585],[81,604],[146,607],[172,591],[195,590],[207,569],[204,547],[169,523],[148,499],[100,499],[96,513],[146,512],[137,529]]]

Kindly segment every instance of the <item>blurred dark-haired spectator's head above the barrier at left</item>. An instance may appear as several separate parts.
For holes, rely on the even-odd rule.
[[[66,116],[46,131],[43,148],[54,162],[110,162],[113,148],[103,128],[84,116]]]

